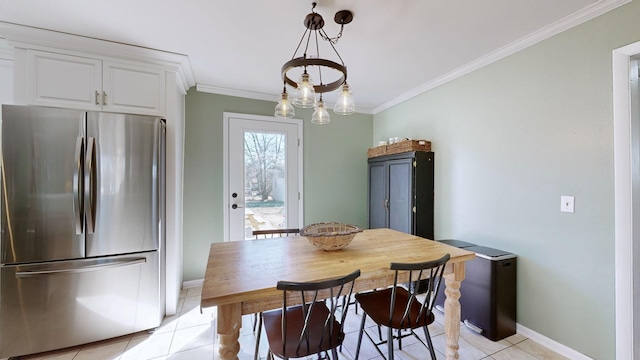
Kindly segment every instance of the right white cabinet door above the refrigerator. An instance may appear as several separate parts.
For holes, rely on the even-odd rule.
[[[104,62],[103,110],[164,116],[165,71]]]

